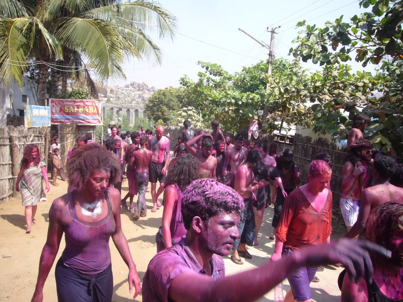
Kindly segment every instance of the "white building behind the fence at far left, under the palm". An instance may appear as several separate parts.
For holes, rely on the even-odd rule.
[[[24,105],[37,105],[38,85],[27,77],[23,77],[21,89],[14,81],[10,89],[4,90],[0,85],[0,125],[6,125],[7,115],[24,116]]]

